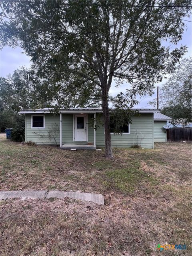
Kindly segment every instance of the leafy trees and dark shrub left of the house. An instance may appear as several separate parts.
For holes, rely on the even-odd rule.
[[[18,115],[22,108],[30,106],[29,83],[26,80],[28,70],[21,68],[15,70],[14,74],[7,78],[0,77],[0,132],[6,128],[17,127],[17,135],[14,140],[23,140],[24,138],[24,117]]]

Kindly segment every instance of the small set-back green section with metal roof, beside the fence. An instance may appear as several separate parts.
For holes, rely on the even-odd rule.
[[[167,142],[166,126],[172,118],[161,113],[154,113],[154,142]]]

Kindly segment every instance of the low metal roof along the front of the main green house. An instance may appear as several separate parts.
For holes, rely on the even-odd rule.
[[[114,110],[114,109],[112,109]],[[154,113],[154,112],[160,112],[160,110],[157,109],[145,109],[145,108],[132,108],[132,110],[138,110],[139,113]],[[54,108],[41,108],[41,109],[27,109],[27,110],[21,110],[18,113],[19,114],[43,114],[43,113],[52,113],[54,112]],[[102,108],[68,108],[68,109],[61,109],[58,111],[59,113],[99,113],[103,112]]]

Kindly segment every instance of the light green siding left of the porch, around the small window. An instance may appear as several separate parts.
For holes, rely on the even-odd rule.
[[[39,114],[42,116],[41,114]],[[54,137],[56,138],[56,142],[60,144],[60,117],[59,115],[53,114],[45,114],[45,128],[31,128],[31,114],[26,114],[26,141],[33,141],[37,144],[51,145],[55,144]],[[54,129],[54,128],[57,129]],[[49,138],[48,134],[51,131],[55,130],[54,136]],[[50,140],[51,139],[51,140]]]

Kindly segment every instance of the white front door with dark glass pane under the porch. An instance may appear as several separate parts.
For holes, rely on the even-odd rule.
[[[74,141],[86,141],[87,129],[86,129],[86,115],[75,115],[74,122]]]

